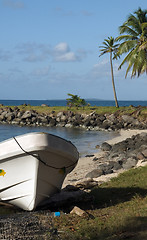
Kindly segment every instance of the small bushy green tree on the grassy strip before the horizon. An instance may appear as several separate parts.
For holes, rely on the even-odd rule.
[[[86,101],[78,97],[78,95],[68,93],[68,96],[70,96],[70,98],[67,98],[66,100],[69,107],[76,107],[78,109],[79,107],[84,107],[87,105]]]

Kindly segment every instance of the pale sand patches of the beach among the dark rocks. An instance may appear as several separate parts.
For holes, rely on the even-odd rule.
[[[121,142],[127,138],[131,138],[133,135],[140,134],[142,132],[147,133],[147,129],[144,130],[120,130],[119,134],[120,136],[113,138],[111,140],[108,140],[107,142],[111,145],[116,144],[118,142]],[[82,157],[79,159],[77,166],[75,169],[67,175],[64,183],[63,183],[63,188],[66,187],[67,185],[72,185],[77,181],[80,181],[85,178],[85,175],[94,170],[96,168],[96,163],[93,161],[93,158],[100,158],[103,156],[103,152],[101,150],[98,150],[97,153],[93,154],[94,156],[92,157]],[[146,164],[146,163],[144,163]],[[138,162],[137,166],[143,165],[141,162]],[[119,170],[116,173],[112,174],[107,174],[107,175],[102,175],[98,177],[97,181],[108,181],[109,179],[118,176],[119,173],[123,172],[124,170]]]

